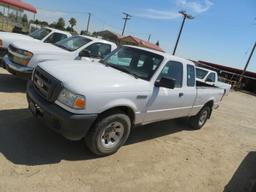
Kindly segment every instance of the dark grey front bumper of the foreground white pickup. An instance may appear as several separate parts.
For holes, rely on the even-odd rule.
[[[27,100],[29,109],[37,118],[69,140],[84,138],[97,118],[96,114],[73,114],[49,103],[37,93],[32,81],[27,85]]]

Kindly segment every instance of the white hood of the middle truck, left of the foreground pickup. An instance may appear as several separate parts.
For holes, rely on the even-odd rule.
[[[12,44],[14,47],[18,49],[23,49],[26,51],[30,51],[34,55],[36,54],[65,54],[69,53],[68,51],[61,49],[53,44],[50,43],[43,43],[43,42],[24,42],[18,41]]]

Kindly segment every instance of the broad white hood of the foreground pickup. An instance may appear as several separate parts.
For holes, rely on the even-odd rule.
[[[63,82],[64,87],[86,95],[93,92],[145,92],[150,82],[107,67],[99,62],[88,61],[47,61],[39,66]]]

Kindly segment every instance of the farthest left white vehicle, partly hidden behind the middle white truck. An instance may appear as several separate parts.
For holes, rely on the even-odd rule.
[[[0,60],[8,53],[8,47],[14,42],[26,43],[44,42],[44,43],[56,43],[62,39],[70,37],[69,32],[60,31],[57,29],[43,27],[35,30],[30,35],[23,35],[18,33],[0,32]]]

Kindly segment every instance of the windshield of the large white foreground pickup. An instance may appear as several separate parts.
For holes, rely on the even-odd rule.
[[[149,81],[162,61],[161,55],[132,47],[121,47],[106,57],[102,63]]]

